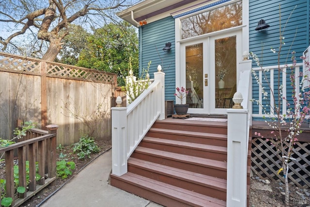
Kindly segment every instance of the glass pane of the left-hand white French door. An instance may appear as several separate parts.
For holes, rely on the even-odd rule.
[[[189,108],[203,108],[203,44],[185,47],[186,50],[186,104]]]

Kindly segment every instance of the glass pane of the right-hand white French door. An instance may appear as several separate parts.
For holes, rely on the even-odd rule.
[[[215,39],[215,107],[232,108],[236,92],[236,36]]]

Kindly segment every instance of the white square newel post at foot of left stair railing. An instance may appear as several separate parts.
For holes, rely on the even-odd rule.
[[[112,118],[112,174],[127,173],[127,108],[111,108]]]

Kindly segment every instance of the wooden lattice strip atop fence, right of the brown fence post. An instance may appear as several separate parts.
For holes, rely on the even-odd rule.
[[[113,84],[115,74],[66,65],[47,64],[47,75]]]

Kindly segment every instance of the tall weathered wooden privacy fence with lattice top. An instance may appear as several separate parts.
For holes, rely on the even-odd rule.
[[[80,136],[110,139],[117,76],[0,52],[0,137],[11,139],[18,119],[44,129],[57,123],[58,144]]]

